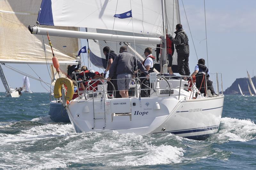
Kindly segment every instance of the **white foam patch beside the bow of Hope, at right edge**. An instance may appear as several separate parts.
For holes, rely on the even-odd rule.
[[[241,120],[236,118],[221,118],[221,129],[218,132],[220,140],[245,142],[255,138],[256,124],[250,119]]]

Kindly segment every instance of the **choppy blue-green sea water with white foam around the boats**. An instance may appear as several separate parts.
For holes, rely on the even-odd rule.
[[[48,93],[0,93],[0,169],[256,169],[256,97],[226,95],[219,131],[204,141],[76,133],[48,109]]]

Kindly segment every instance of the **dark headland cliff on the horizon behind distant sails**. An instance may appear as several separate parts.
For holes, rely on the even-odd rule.
[[[249,86],[251,88],[252,94],[254,94],[253,90],[252,90],[252,86],[250,85],[249,79],[248,78],[237,78],[234,83],[232,83],[232,85],[230,87],[228,87],[225,91],[224,94],[240,94],[239,92],[239,88],[238,88],[238,84],[240,85],[242,92],[245,95],[250,95],[249,90],[248,90],[248,85],[247,83],[249,83]],[[252,82],[254,84],[254,86],[256,87],[256,76],[254,76],[252,78]],[[255,95],[255,94],[254,94]]]

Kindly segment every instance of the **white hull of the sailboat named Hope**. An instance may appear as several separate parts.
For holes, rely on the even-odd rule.
[[[180,100],[178,94],[179,89],[174,89],[171,96],[141,98],[141,101],[135,97],[104,100],[100,95],[94,100],[76,98],[67,111],[76,132],[173,133],[201,140],[218,131],[224,96],[199,95],[188,100],[191,92],[182,88]]]

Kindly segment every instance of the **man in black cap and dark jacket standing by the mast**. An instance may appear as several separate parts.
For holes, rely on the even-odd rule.
[[[176,34],[175,38],[173,38],[171,34],[168,34],[168,37],[175,44],[175,48],[178,54],[178,72],[182,76],[189,76],[190,70],[188,66],[188,35],[183,30],[181,24],[176,25],[176,31],[174,33]]]

